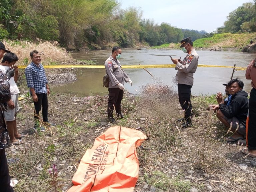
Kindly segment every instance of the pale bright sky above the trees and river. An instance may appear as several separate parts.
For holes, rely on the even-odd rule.
[[[182,29],[208,33],[223,26],[230,12],[253,0],[120,0],[121,8],[137,7],[143,18]]]

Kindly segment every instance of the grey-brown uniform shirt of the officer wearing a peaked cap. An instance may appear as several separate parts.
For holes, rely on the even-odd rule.
[[[199,56],[195,49],[191,50],[183,59],[182,63],[177,63],[175,70],[178,70],[176,77],[178,84],[193,85],[193,75],[196,72]]]

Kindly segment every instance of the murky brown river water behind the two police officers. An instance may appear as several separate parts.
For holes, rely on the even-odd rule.
[[[199,63],[204,65],[227,65],[237,67],[247,67],[254,53],[229,52],[229,51],[202,51],[197,50]],[[74,59],[93,59],[98,65],[103,65],[105,60],[111,54],[111,50],[100,51],[80,51],[73,52]],[[186,56],[181,50],[137,50],[122,49],[121,65],[147,65],[147,64],[172,64],[169,55],[173,58],[184,58]],[[154,77],[150,76],[144,69],[125,69],[133,82],[131,87],[125,83],[125,88],[133,94],[138,94],[143,85],[156,84],[168,85],[177,90],[174,82],[177,71],[174,68],[150,68],[147,69]],[[194,85],[191,89],[193,95],[211,95],[220,91],[225,93],[225,87],[222,85],[230,80],[233,68],[197,68],[194,74]],[[106,95],[107,88],[103,87],[102,77],[105,75],[105,69],[79,69],[77,71],[78,81],[63,86],[54,87],[53,90],[58,93],[70,93],[78,96],[88,95]],[[244,82],[244,90],[251,90],[250,80],[245,79],[245,71],[236,71],[233,78],[239,77]]]

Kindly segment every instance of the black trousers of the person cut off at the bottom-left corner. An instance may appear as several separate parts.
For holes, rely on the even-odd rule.
[[[4,149],[0,149],[0,192],[14,192],[10,185],[10,175]]]

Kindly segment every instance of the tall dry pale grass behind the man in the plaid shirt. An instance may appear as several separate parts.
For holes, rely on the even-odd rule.
[[[32,50],[42,52],[42,63],[44,65],[65,64],[72,59],[71,54],[65,48],[61,48],[57,42],[3,41],[3,43],[6,49],[18,56],[18,65],[27,65],[31,62],[29,53]]]

